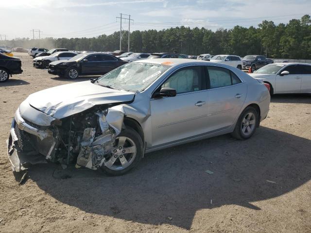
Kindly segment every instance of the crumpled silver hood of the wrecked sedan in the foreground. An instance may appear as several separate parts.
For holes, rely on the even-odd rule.
[[[133,92],[110,89],[85,81],[35,92],[26,101],[36,109],[61,119],[95,105],[131,101],[134,96]]]

